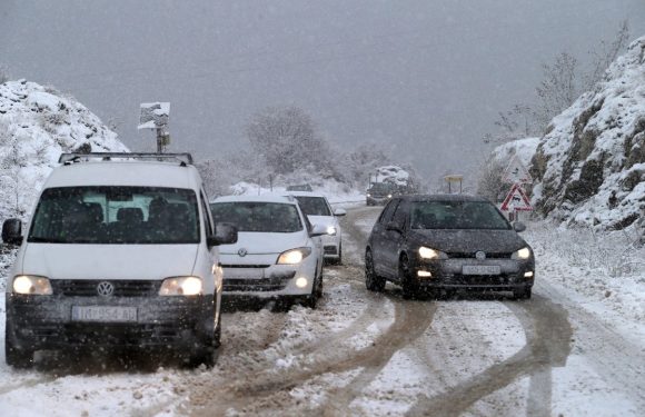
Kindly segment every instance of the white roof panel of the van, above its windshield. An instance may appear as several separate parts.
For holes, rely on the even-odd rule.
[[[56,168],[44,187],[142,186],[199,189],[192,166],[158,161],[88,161]]]

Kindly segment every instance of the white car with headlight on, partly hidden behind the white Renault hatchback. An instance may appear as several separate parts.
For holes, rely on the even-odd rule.
[[[290,191],[298,200],[300,209],[309,221],[325,227],[327,235],[322,236],[322,249],[325,260],[330,264],[340,265],[343,262],[343,230],[338,217],[345,216],[345,209],[333,210],[327,198],[320,193],[306,191]]]

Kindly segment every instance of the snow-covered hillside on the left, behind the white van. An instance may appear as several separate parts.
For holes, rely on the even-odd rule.
[[[86,107],[34,82],[0,85],[0,218],[24,216],[61,152],[127,151]]]

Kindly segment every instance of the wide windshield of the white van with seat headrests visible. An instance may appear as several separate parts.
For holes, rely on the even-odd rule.
[[[61,187],[40,197],[30,242],[197,244],[197,197],[190,189]]]

